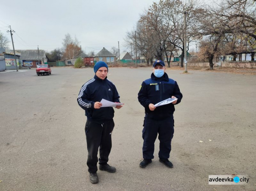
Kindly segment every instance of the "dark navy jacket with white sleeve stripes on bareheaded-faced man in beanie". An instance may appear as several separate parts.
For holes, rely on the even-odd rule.
[[[115,85],[107,80],[107,77],[104,80],[101,80],[95,75],[93,79],[82,86],[77,102],[80,107],[85,110],[87,120],[102,124],[113,119],[114,109],[113,107],[101,107],[100,109],[95,109],[94,103],[100,102],[101,99],[120,103],[119,98],[120,96]]]

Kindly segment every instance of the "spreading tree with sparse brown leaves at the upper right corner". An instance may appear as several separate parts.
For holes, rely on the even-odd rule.
[[[255,7],[252,0],[226,0],[197,12],[198,23],[194,28],[197,32],[194,34],[201,39],[200,49],[209,59],[210,69],[213,69],[216,53],[232,54],[236,60],[237,54],[245,50],[244,45],[255,48]]]

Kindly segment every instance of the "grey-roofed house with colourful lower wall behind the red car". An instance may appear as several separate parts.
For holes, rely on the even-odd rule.
[[[39,64],[47,64],[47,57],[44,50],[17,50],[20,52],[22,66],[37,68]]]

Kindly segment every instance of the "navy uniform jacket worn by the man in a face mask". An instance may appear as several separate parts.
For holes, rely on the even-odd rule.
[[[174,104],[170,103],[156,107],[154,111],[151,111],[148,105],[151,103],[156,104],[172,96],[178,99],[176,104],[181,102],[182,93],[180,92],[177,82],[168,78],[167,73],[164,73],[160,78],[152,73],[150,79],[142,82],[141,89],[138,93],[138,100],[145,108],[147,117],[154,120],[162,120],[173,115],[175,111]]]

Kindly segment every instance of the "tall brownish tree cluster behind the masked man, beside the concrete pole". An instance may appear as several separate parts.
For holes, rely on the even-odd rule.
[[[194,19],[194,12],[197,9],[197,3],[193,0],[189,0],[185,5],[181,0],[160,0],[159,3],[153,3],[141,15],[135,29],[138,34],[137,45],[141,54],[145,55],[146,53],[148,59],[152,59],[153,57],[162,59],[163,55],[166,55],[168,67],[170,67],[171,55],[174,51],[180,49],[182,50],[181,66],[183,67],[183,13],[184,11],[187,12],[187,25],[190,26],[196,21]],[[188,27],[189,30],[190,28]],[[127,33],[127,38],[125,39],[127,48],[129,48],[129,45],[135,45],[133,31]],[[187,39],[189,44],[192,39],[190,33],[187,34]]]

